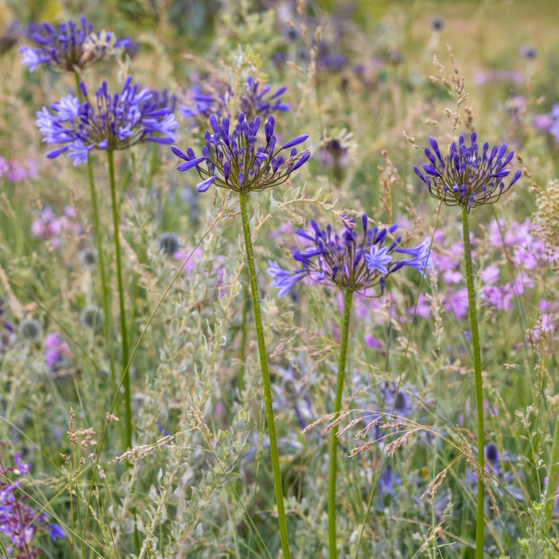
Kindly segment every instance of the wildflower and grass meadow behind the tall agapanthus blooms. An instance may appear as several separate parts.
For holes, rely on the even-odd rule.
[[[110,357],[118,361],[122,340],[106,158],[90,156],[110,317],[101,314],[86,168],[47,159],[52,146],[35,125],[43,106],[75,94],[74,78],[29,73],[18,52],[32,44],[30,24],[80,14],[133,42],[85,70],[88,89],[102,80],[119,89],[129,74],[168,89],[182,150],[199,152],[210,127],[203,115],[180,114],[191,88],[228,85],[236,99],[249,76],[271,91],[286,86],[291,108],[275,113],[284,139],[310,135],[302,170],[249,198],[296,558],[328,557],[328,421],[303,429],[332,409],[342,297],[300,283],[279,298],[268,260],[293,267],[293,228],[311,217],[341,228],[343,212],[397,222],[410,244],[433,240],[423,280],[408,270],[381,298],[354,303],[338,557],[473,557],[477,423],[460,211],[439,210],[413,166],[427,162],[429,136],[445,145],[472,129],[520,156],[521,180],[470,214],[485,555],[558,557],[553,491],[551,523],[542,507],[559,461],[559,8],[539,0],[0,0],[0,511],[10,481],[35,511],[23,523],[34,527],[27,549],[8,555],[17,522],[0,525],[0,556],[281,556],[240,217],[214,223],[226,194],[196,192],[196,176],[175,170],[166,145],[115,154],[137,345],[131,449],[123,421],[108,416]],[[451,76],[464,78],[459,106]],[[116,400],[122,409],[122,392]]]

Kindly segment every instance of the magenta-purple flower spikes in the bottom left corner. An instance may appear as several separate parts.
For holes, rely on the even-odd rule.
[[[6,443],[0,441],[0,447]],[[34,559],[42,556],[42,551],[34,544],[36,535],[48,532],[54,542],[59,537],[64,537],[64,530],[58,525],[49,522],[48,515],[40,512],[25,503],[27,495],[22,495],[18,488],[21,481],[10,481],[10,477],[22,476],[29,472],[31,467],[21,461],[21,453],[13,455],[14,466],[6,467],[2,463],[0,452],[0,532],[10,539],[8,553],[12,556]]]

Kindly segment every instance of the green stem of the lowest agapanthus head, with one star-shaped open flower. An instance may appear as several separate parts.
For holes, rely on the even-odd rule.
[[[345,362],[347,358],[347,338],[349,335],[349,318],[351,317],[351,300],[354,292],[345,291],[344,321],[340,333],[340,355],[337,359],[336,394],[334,400],[334,416],[337,419],[342,409],[342,392],[344,389]],[[337,557],[336,551],[336,472],[337,472],[337,426],[330,431],[330,472],[328,474],[328,542],[330,544],[330,559]]]

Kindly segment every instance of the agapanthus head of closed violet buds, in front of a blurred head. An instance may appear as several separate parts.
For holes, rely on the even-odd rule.
[[[171,147],[177,157],[184,159],[177,170],[196,168],[202,179],[196,184],[198,192],[205,192],[212,184],[243,194],[275,187],[309,160],[308,150],[298,152],[295,147],[305,142],[308,134],[301,134],[277,147],[275,119],[269,115],[263,126],[266,141],[257,145],[260,117],[248,121],[245,113],[240,112],[237,121],[233,126],[228,117],[224,117],[218,124],[216,116],[210,116],[212,131],[205,133],[202,157],[196,157],[191,147],[186,153],[175,145]],[[282,155],[284,150],[290,150],[287,157]]]

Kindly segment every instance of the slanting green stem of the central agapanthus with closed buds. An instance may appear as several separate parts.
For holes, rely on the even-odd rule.
[[[250,226],[247,217],[247,194],[239,194],[240,215],[242,217],[242,228],[245,232],[245,249],[247,251],[247,263],[249,267],[250,290],[252,292],[252,306],[254,307],[254,322],[256,324],[256,337],[258,339],[258,350],[260,355],[260,368],[262,371],[262,384],[264,389],[264,400],[266,402],[266,419],[268,421],[268,435],[270,437],[270,453],[272,455],[272,469],[274,474],[275,500],[277,505],[277,520],[279,522],[279,535],[282,540],[282,551],[284,559],[289,559],[289,542],[287,538],[287,523],[285,519],[284,492],[282,488],[282,474],[279,470],[279,455],[277,453],[277,440],[275,436],[274,412],[272,409],[272,391],[270,390],[270,375],[268,373],[268,356],[266,355],[266,343],[264,341],[264,328],[262,326],[262,314],[260,312],[260,301],[258,286],[256,285],[256,270],[254,268],[254,255],[252,253],[252,240]]]

